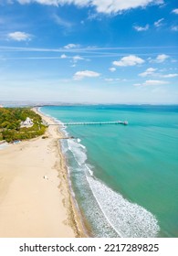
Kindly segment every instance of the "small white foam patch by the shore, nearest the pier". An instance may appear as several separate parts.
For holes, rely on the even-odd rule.
[[[78,164],[81,166],[87,160],[86,147],[76,142],[76,140],[68,140],[68,149],[72,152]]]

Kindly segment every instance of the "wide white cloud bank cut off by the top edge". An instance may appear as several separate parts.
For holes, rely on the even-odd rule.
[[[162,5],[163,0],[17,0],[20,4],[94,6],[97,12],[111,14],[147,5]]]

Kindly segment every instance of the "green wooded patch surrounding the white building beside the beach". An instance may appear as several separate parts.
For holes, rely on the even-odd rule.
[[[21,127],[20,123],[26,117],[33,120],[32,127]],[[13,142],[16,140],[32,139],[44,134],[46,126],[42,118],[29,108],[0,108],[0,140]]]

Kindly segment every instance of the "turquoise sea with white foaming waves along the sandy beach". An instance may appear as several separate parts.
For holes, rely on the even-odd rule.
[[[68,126],[71,187],[94,237],[178,237],[178,106],[47,106]]]

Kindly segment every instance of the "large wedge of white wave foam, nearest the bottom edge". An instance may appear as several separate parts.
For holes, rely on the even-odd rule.
[[[89,187],[110,226],[120,237],[152,238],[159,231],[157,219],[145,208],[124,199],[91,176],[87,176]]]

